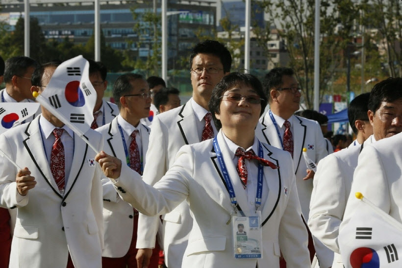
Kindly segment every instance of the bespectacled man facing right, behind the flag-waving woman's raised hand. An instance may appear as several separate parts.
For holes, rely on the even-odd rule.
[[[140,120],[148,117],[150,111],[151,96],[148,83],[139,74],[123,74],[117,78],[113,86],[113,97],[120,107],[120,115],[111,123],[97,129],[103,137],[104,151],[126,162],[126,153],[130,157],[129,149],[132,142],[130,135],[133,131],[137,131],[135,143],[141,154],[141,167],[144,167],[150,128]],[[109,179],[103,179],[102,185],[105,227],[102,266],[135,267],[138,212],[133,211],[132,206],[117,195]],[[158,260],[159,246],[153,250],[149,267],[157,268]]]

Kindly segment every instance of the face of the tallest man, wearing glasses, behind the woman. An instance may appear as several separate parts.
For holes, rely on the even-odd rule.
[[[218,68],[218,73],[207,73],[208,67]],[[221,81],[222,77],[228,73],[224,73],[221,59],[212,54],[199,53],[193,58],[192,69],[204,68],[201,74],[191,74],[191,85],[193,86],[193,97],[211,98],[212,89]]]

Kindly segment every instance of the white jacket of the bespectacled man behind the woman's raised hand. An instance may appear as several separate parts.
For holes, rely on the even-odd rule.
[[[141,145],[145,165],[150,129],[141,124]],[[102,134],[104,151],[122,160],[126,165],[126,153],[122,136],[117,126],[117,117],[109,124],[97,129]],[[127,147],[128,149],[128,147]],[[117,196],[108,178],[102,179],[104,241],[103,257],[120,258],[126,255],[131,244],[133,232],[133,209],[130,204]],[[131,216],[131,217],[130,217]]]

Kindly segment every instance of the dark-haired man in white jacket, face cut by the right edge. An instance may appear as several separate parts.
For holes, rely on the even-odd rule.
[[[363,98],[357,99],[359,102],[366,97],[360,95],[356,98]],[[402,78],[388,78],[377,83],[366,105],[362,106],[368,107],[368,120],[374,134],[363,145],[349,147],[322,159],[314,176],[308,225],[311,233],[335,252],[333,268],[343,268],[338,245],[339,226],[351,194],[359,154],[376,141],[402,131],[402,123],[395,118],[402,114]]]

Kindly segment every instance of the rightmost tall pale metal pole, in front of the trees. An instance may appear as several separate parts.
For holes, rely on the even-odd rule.
[[[314,25],[314,110],[320,109],[320,0],[315,0]]]

